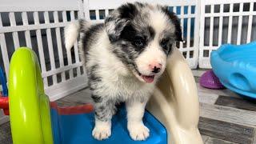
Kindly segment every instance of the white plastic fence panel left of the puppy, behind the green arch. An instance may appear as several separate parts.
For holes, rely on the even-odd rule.
[[[63,29],[82,18],[82,1],[6,0],[0,5],[1,66],[8,76],[10,57],[19,46],[38,54],[46,94],[61,98],[86,86],[85,69],[75,43],[73,54],[63,45]]]

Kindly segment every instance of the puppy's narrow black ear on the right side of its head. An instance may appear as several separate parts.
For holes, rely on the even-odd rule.
[[[170,10],[168,10],[168,6],[163,6],[162,11],[168,15],[168,17],[170,18],[170,21],[175,26],[176,41],[182,42],[182,27],[181,27],[181,23],[178,20],[177,15],[174,12],[171,12]]]

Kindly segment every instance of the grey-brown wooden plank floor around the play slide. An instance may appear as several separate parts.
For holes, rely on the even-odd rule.
[[[195,77],[198,82],[198,77]],[[198,85],[200,120],[198,128],[206,144],[256,144],[256,101],[239,97],[230,90],[208,90]],[[88,89],[79,90],[58,101],[74,106],[90,99]],[[11,143],[10,124],[0,126],[0,143]]]

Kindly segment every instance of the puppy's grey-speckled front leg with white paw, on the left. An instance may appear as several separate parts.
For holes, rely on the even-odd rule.
[[[99,102],[101,98],[94,95],[92,98],[95,102],[95,126],[92,135],[98,140],[109,138],[111,135],[111,118],[116,110],[114,102]]]

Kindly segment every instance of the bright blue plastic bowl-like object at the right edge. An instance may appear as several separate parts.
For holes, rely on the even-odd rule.
[[[256,98],[256,42],[222,45],[211,53],[210,63],[226,88]]]

